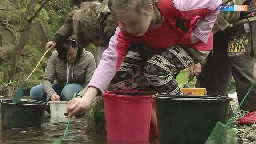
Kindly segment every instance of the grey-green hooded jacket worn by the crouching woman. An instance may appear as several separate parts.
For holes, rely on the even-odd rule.
[[[58,84],[61,87],[71,83],[81,84],[84,89],[78,93],[78,96],[83,96],[87,91],[87,85],[96,69],[94,56],[91,52],[83,49],[81,58],[72,64],[60,60],[57,56],[57,51],[53,51],[42,79],[42,85],[47,95],[46,100],[48,101],[50,96],[56,93],[52,88],[52,84]],[[71,65],[71,67],[68,72],[69,65]],[[68,79],[67,73],[69,73]]]

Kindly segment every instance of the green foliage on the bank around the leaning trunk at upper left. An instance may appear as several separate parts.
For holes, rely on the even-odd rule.
[[[26,16],[25,12],[30,0],[8,1],[8,12],[6,10],[0,10],[0,20],[6,20],[6,14],[8,14],[8,23],[7,25],[1,25],[0,31],[2,28],[5,28],[13,34],[15,39],[10,39],[10,41],[13,42],[13,45],[11,44],[11,48],[14,48],[14,45],[18,41],[16,39],[20,39],[20,33],[23,30],[22,28],[24,28],[24,24],[26,24],[24,21],[24,16]],[[40,8],[44,2],[45,0],[37,0],[35,10],[38,10],[38,8]],[[69,0],[51,0],[38,13],[37,17],[33,20],[28,42],[22,50],[22,54],[18,62],[15,80],[12,81],[10,88],[1,92],[3,96],[5,96],[5,94],[6,96],[13,96],[13,94],[15,94],[15,89],[19,88],[20,84],[24,82],[24,80],[36,67],[36,64],[39,62],[41,56],[43,56],[45,52],[45,44],[48,42],[48,40],[52,39],[52,36],[54,36],[55,32],[64,24],[70,11],[71,8],[69,6]],[[26,20],[28,20],[30,17],[31,16],[27,16]],[[13,50],[10,50],[5,53],[4,60],[6,62],[0,64],[1,85],[3,84],[4,69],[8,67],[7,63],[10,60],[12,52]],[[28,79],[27,83],[24,85],[24,91],[32,88],[37,84],[41,84],[42,76],[44,75],[44,69],[48,61],[48,56],[44,58],[40,66]]]

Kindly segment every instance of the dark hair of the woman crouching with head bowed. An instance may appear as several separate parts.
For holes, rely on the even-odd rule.
[[[70,36],[62,46],[59,46],[57,47],[57,52],[58,52],[58,58],[61,59],[61,60],[64,60],[64,62],[68,62],[67,60],[67,53],[68,53],[68,50],[69,48],[75,48],[77,49],[77,54],[76,54],[76,60],[79,60],[81,58],[81,54],[82,54],[82,51],[83,51],[83,48],[81,47],[78,47],[77,44],[76,44],[76,38],[74,35]]]

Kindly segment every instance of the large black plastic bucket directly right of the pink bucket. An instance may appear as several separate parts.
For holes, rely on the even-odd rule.
[[[218,121],[228,122],[226,96],[166,95],[156,100],[159,144],[204,144]]]

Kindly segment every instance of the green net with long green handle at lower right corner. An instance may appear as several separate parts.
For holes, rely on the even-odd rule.
[[[237,115],[242,104],[248,97],[249,93],[252,91],[252,88],[255,86],[255,83],[252,84],[251,88],[249,88],[248,92],[244,96],[243,100],[239,104],[236,112],[233,113],[231,119],[227,124],[223,124],[221,122],[217,122],[216,126],[213,128],[211,135],[206,140],[205,144],[236,144],[236,135],[235,130],[230,128],[234,117]]]

